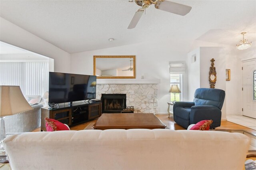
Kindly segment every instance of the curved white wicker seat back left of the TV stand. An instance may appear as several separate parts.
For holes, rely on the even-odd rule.
[[[41,127],[41,107],[44,105],[33,105],[33,110],[5,117],[6,134],[31,132]]]

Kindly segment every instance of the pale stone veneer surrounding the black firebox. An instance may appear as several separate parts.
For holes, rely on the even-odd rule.
[[[101,94],[126,94],[126,106],[134,106],[134,113],[158,113],[157,84],[97,84],[96,99]]]

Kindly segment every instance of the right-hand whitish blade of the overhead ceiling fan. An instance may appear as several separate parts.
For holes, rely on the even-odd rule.
[[[190,10],[192,8],[191,6],[186,6],[183,4],[178,4],[176,2],[170,2],[167,0],[164,0],[164,1],[159,0],[156,3],[155,7],[159,10],[171,12],[171,13],[178,14],[181,16],[188,14],[188,12],[190,12]]]

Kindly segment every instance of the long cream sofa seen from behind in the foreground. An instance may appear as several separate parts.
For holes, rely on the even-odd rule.
[[[244,134],[169,129],[28,132],[4,139],[12,170],[241,170]]]

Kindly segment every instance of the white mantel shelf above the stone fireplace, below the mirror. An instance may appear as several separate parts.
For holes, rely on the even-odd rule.
[[[160,84],[160,79],[97,79],[97,84]]]

